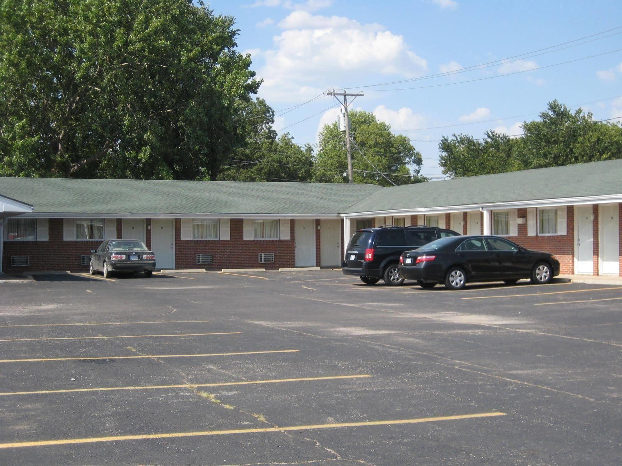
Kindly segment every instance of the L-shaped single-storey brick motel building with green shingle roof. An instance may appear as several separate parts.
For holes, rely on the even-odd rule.
[[[19,199],[19,200],[17,200]],[[0,271],[88,272],[104,239],[162,270],[339,267],[357,229],[427,225],[622,276],[622,160],[383,188],[328,183],[0,178]]]

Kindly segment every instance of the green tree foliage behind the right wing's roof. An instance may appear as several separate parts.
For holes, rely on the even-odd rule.
[[[540,119],[524,122],[524,135],[511,138],[494,131],[483,140],[470,135],[443,137],[440,162],[450,176],[473,176],[559,167],[573,163],[622,158],[622,127],[592,119],[582,109],[572,112],[552,101]]]

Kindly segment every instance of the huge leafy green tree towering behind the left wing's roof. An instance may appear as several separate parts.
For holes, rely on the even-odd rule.
[[[216,178],[259,81],[191,0],[0,0],[0,173]]]

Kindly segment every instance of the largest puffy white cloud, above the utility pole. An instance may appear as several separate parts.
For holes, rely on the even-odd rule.
[[[379,24],[294,11],[279,27],[283,30],[258,70],[264,79],[259,93],[271,101],[303,101],[358,75],[412,78],[427,70],[426,60],[404,37]]]

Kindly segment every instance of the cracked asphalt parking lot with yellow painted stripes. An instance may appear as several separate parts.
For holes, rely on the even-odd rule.
[[[0,284],[0,464],[620,464],[622,286]]]

